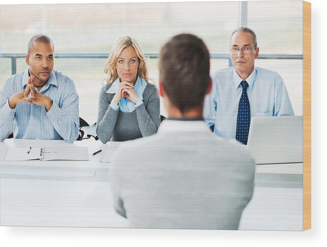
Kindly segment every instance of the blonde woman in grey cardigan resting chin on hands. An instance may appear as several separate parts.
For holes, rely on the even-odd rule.
[[[160,100],[148,83],[146,59],[136,40],[119,39],[108,56],[101,88],[97,135],[101,142],[126,141],[150,136],[160,125]]]

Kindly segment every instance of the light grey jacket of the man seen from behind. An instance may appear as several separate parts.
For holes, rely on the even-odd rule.
[[[237,229],[254,186],[246,146],[204,121],[166,119],[122,143],[110,170],[115,209],[134,228]]]

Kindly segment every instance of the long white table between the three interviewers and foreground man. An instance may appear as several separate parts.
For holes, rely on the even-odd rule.
[[[113,209],[111,163],[100,163],[111,144],[17,139],[0,143],[0,224],[128,227]],[[87,146],[90,161],[4,161],[7,148],[31,145]],[[101,153],[91,156],[99,149]],[[302,230],[302,181],[302,163],[257,165],[254,195],[240,229]]]

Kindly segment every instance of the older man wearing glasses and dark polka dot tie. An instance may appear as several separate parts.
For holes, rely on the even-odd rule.
[[[231,36],[233,67],[212,75],[213,90],[204,103],[204,119],[214,133],[247,144],[253,116],[293,116],[282,77],[254,66],[259,56],[257,38],[249,27],[236,29]]]

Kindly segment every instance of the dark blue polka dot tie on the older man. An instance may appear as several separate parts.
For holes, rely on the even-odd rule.
[[[237,112],[237,124],[236,124],[236,140],[243,144],[248,143],[249,129],[250,129],[250,103],[246,92],[249,84],[246,81],[241,82],[242,96],[239,103],[239,111]]]

